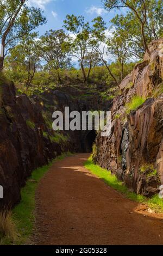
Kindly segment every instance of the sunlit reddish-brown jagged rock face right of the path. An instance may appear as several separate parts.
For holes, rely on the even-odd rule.
[[[149,46],[145,55],[120,84],[122,94],[114,99],[110,137],[96,140],[94,160],[110,169],[137,193],[152,196],[163,183],[163,39]],[[160,88],[160,90],[158,89]],[[155,93],[157,92],[157,93]],[[126,113],[134,95],[148,98],[135,111]],[[153,95],[156,95],[153,97]]]

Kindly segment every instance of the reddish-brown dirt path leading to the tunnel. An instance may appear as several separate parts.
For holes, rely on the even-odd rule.
[[[161,216],[137,204],[83,167],[87,154],[55,162],[36,193],[37,245],[161,245]]]

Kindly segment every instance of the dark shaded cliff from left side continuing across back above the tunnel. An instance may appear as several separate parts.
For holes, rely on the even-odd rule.
[[[104,89],[101,89],[103,93]],[[66,151],[84,150],[80,131],[52,130],[52,113],[55,110],[64,113],[65,106],[69,106],[70,111],[79,112],[106,109],[112,105],[112,100],[103,101],[101,89],[92,93],[83,85],[80,88],[62,86],[46,89],[29,99],[26,94],[17,96],[14,84],[1,75],[0,185],[4,199],[0,199],[0,209],[19,202],[21,187],[32,170]]]

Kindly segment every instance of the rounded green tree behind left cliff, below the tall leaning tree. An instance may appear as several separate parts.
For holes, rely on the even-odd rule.
[[[10,51],[8,62],[17,70],[27,72],[26,88],[28,90],[35,72],[41,68],[41,45],[37,33],[26,35],[20,44]]]

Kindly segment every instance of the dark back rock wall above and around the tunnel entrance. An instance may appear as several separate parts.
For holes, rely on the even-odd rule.
[[[84,86],[81,86],[84,87]],[[112,100],[103,100],[100,92],[105,90],[104,87],[95,89],[95,92],[89,92],[90,89],[74,86],[67,88],[66,86],[58,87],[57,90],[49,89],[40,95],[43,102],[43,112],[49,112],[49,118],[52,120],[52,113],[54,111],[61,111],[65,114],[65,107],[69,107],[70,113],[78,111],[82,116],[82,111],[106,111],[112,106]],[[39,100],[40,100],[39,99]],[[71,119],[70,119],[71,121]],[[81,120],[82,124],[82,120]],[[87,131],[66,131],[68,137],[71,138],[73,145],[73,152],[85,151],[85,137]]]

